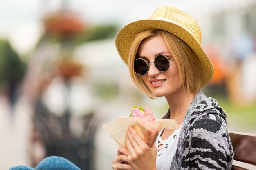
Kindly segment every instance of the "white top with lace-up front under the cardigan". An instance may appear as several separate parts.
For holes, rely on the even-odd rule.
[[[180,127],[182,127],[182,124],[180,125]],[[180,130],[181,128],[175,130],[171,134],[171,136],[164,141],[161,138],[164,128],[160,130],[155,141],[155,145],[157,147],[157,159],[155,165],[157,167],[157,170],[170,170],[171,161],[177,149]]]

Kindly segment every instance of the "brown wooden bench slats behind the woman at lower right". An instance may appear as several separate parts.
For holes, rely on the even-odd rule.
[[[256,134],[229,132],[232,141],[234,160],[256,165]],[[248,170],[233,163],[232,170]],[[256,169],[255,169],[256,170]]]

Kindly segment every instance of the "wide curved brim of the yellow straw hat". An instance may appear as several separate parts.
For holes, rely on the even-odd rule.
[[[115,43],[119,55],[126,64],[128,63],[130,46],[133,39],[138,33],[147,29],[164,30],[183,40],[198,57],[202,87],[206,86],[211,81],[214,73],[213,65],[201,45],[189,31],[169,21],[148,19],[135,21],[124,26],[117,34]]]

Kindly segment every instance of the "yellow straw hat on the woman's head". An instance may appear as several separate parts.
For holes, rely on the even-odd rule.
[[[116,47],[126,64],[133,39],[139,32],[147,29],[167,31],[188,44],[200,62],[202,87],[211,81],[214,73],[213,65],[200,45],[200,27],[194,18],[174,7],[159,7],[148,20],[132,22],[119,31],[116,37]]]

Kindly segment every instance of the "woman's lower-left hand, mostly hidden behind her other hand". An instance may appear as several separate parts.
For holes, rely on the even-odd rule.
[[[132,167],[128,165],[128,150],[123,147],[119,147],[117,150],[117,157],[113,159],[113,170],[132,170]]]

